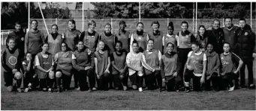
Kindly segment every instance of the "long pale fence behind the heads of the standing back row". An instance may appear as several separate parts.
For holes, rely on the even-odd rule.
[[[30,19],[32,20],[32,19]],[[43,31],[45,36],[47,36],[47,29],[49,33],[51,32],[51,26],[53,24],[57,24],[59,26],[59,34],[62,34],[65,32],[65,30],[68,29],[68,19],[45,19],[45,22],[47,24],[47,28],[45,28],[44,20],[43,19],[36,19],[38,20],[38,29]],[[89,20],[86,19],[84,21],[84,27],[82,19],[74,19],[76,21],[76,27],[77,30],[80,30],[81,32],[83,30],[86,30],[88,28],[88,22]],[[96,22],[96,28],[95,31],[98,33],[104,32],[104,25],[107,23],[110,23],[112,25],[112,31],[113,34],[119,29],[119,21],[124,20],[126,22],[127,27],[125,28],[127,31],[134,31],[136,29],[137,22],[139,22],[139,19],[94,19]],[[204,25],[206,28],[209,28],[212,25],[212,21],[214,19],[197,19],[197,26],[195,25],[195,22],[193,22],[193,19],[140,19],[140,22],[143,22],[144,24],[144,31],[152,31],[151,28],[151,22],[152,21],[158,21],[160,23],[160,31],[163,31],[164,34],[167,34],[167,24],[168,22],[172,21],[174,25],[174,34],[176,34],[178,31],[181,30],[180,24],[182,21],[188,22],[188,31],[195,32],[199,25]],[[224,19],[219,19],[221,21],[221,25],[223,24]],[[239,19],[233,19],[233,24],[237,25]],[[250,20],[247,20],[247,24],[250,25]],[[252,19],[252,30],[256,32],[256,19]],[[84,28],[84,29],[82,29]],[[2,45],[5,45],[5,39],[11,31],[1,31],[1,37],[2,37]]]

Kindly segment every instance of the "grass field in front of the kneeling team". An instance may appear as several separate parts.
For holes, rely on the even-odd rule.
[[[1,110],[256,110],[255,99],[255,89],[189,93],[157,90],[8,92],[1,73]]]

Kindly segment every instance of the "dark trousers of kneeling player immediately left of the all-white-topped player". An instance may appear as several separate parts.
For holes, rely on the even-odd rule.
[[[127,86],[127,74],[122,74],[122,78],[120,76],[121,74],[113,74],[113,82],[115,88],[122,88],[122,86]]]

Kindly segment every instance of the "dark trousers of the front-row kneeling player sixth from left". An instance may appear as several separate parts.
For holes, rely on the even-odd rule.
[[[109,74],[102,74],[99,79],[97,79],[98,90],[108,90]]]

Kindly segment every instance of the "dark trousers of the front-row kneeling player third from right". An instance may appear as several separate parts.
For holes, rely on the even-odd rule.
[[[193,71],[188,69],[185,70],[184,80],[185,82],[190,82],[191,78],[193,79],[193,90],[200,91],[203,89],[203,84],[200,83],[201,77],[197,77],[193,74]]]

